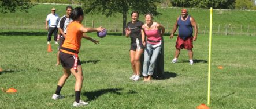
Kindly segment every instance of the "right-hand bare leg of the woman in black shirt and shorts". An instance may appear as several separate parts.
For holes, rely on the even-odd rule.
[[[140,49],[139,51],[136,50],[135,53],[135,68],[136,68],[136,75],[140,75],[140,57],[142,56],[142,53],[144,52],[144,49]]]

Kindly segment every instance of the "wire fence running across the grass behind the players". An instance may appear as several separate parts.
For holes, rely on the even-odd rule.
[[[95,20],[84,20],[82,23],[88,27],[103,26],[109,32],[122,32],[122,21],[101,22]],[[165,27],[165,32],[170,33],[173,28],[173,23],[160,22]],[[15,20],[8,19],[0,22],[0,29],[17,29],[17,30],[43,30],[45,29],[45,21],[38,20]],[[212,33],[218,35],[242,35],[242,36],[256,36],[255,25],[238,25],[238,24],[213,24]],[[198,34],[209,34],[209,24],[198,24]]]

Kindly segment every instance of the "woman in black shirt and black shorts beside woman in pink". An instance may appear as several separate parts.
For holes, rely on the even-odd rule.
[[[130,58],[133,75],[130,77],[131,80],[138,81],[140,78],[140,56],[144,52],[144,31],[142,21],[138,20],[138,11],[132,11],[131,14],[132,21],[127,23],[127,28],[125,29],[125,36],[131,38],[131,48],[130,48]]]

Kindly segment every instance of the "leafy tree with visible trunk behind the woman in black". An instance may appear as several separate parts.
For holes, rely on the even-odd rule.
[[[137,10],[141,14],[152,13],[155,16],[157,12],[155,3],[159,0],[81,0],[83,3],[85,14],[101,12],[106,17],[110,17],[115,13],[123,14],[123,34],[125,34],[125,26],[127,22],[127,13],[129,10]]]

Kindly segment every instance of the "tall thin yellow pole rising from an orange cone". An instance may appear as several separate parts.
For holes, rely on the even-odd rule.
[[[213,7],[210,9],[210,32],[209,32],[209,57],[208,57],[208,102],[210,105],[210,78],[211,78],[211,49],[212,49],[212,17],[213,17]]]

